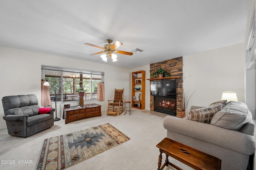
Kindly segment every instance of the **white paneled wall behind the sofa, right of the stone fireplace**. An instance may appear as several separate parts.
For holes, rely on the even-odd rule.
[[[183,57],[183,87],[196,92],[190,106],[208,106],[221,99],[223,91],[235,91],[245,102],[243,43]]]

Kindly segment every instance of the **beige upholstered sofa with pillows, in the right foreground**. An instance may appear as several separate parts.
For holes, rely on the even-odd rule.
[[[192,106],[187,117],[166,116],[163,125],[168,138],[220,158],[221,169],[252,170],[255,125],[244,103]]]

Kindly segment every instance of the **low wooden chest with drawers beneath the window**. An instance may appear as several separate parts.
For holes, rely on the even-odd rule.
[[[78,106],[63,107],[63,119],[65,119],[65,124],[85,117],[101,116],[101,106],[98,104],[87,104],[80,109],[77,107]]]

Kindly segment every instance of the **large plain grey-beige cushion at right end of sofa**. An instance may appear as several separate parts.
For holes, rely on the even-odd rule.
[[[230,101],[214,115],[210,124],[239,131],[250,119],[252,119],[252,113],[246,104]]]

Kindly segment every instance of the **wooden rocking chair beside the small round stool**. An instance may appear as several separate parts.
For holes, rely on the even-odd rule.
[[[124,88],[123,89],[115,89],[114,100],[108,100],[108,111],[107,111],[107,113],[108,112],[110,114],[111,113],[118,113],[118,115],[120,115],[124,111],[123,106],[124,106]]]

